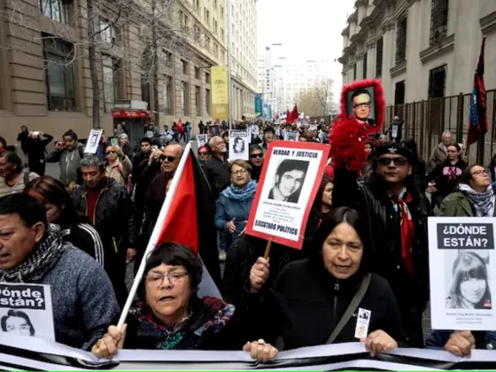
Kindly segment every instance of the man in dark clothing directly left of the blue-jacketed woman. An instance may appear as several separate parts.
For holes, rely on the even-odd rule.
[[[221,195],[221,192],[226,189],[231,182],[227,155],[228,149],[226,143],[220,136],[214,136],[209,144],[213,154],[212,158],[205,163],[203,171],[206,180],[210,183],[213,196],[217,199],[219,198],[219,195]]]

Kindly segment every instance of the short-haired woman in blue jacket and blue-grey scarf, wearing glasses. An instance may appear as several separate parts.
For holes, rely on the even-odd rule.
[[[251,179],[251,172],[252,166],[244,160],[237,159],[229,164],[231,184],[221,192],[215,211],[215,226],[222,232],[228,232],[226,247],[237,239],[246,226],[257,190],[257,182]]]

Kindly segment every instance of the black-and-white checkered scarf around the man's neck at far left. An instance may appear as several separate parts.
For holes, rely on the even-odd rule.
[[[35,283],[50,271],[62,252],[66,250],[62,237],[65,233],[58,225],[49,225],[43,241],[35,248],[35,252],[27,257],[19,266],[8,270],[0,270],[0,282]]]

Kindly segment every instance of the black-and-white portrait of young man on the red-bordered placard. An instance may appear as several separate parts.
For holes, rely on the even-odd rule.
[[[268,198],[298,203],[308,164],[306,160],[284,159],[281,161],[275,171],[274,187],[270,190]]]

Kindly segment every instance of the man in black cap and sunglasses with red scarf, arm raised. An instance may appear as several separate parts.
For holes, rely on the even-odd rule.
[[[408,344],[422,347],[422,312],[429,299],[429,258],[425,195],[412,177],[415,156],[399,143],[376,148],[367,183],[336,165],[333,206],[356,209],[370,225],[376,250],[374,272],[391,285]]]

